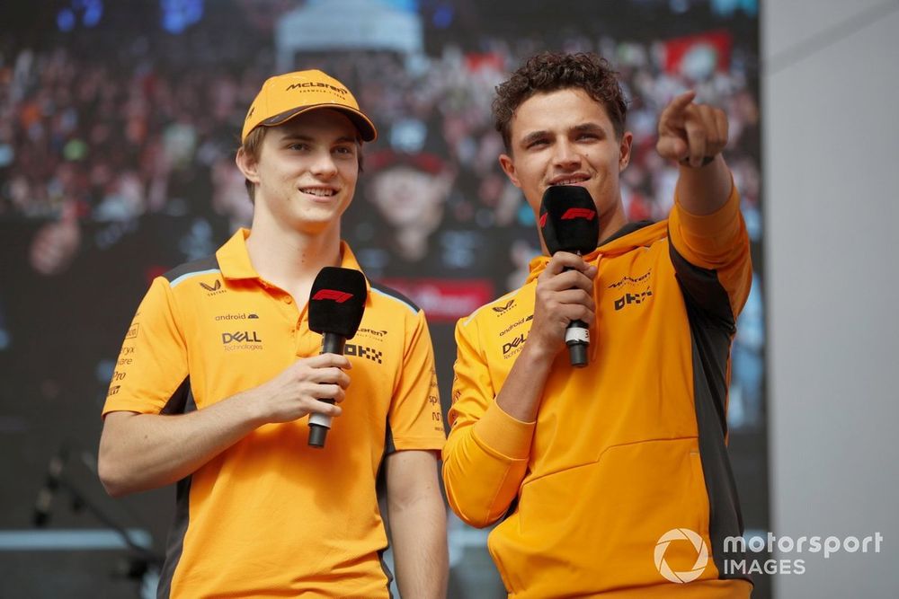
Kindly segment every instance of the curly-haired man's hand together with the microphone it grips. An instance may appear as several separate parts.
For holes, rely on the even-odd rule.
[[[587,366],[587,348],[590,346],[590,330],[583,318],[592,320],[593,317],[591,279],[595,269],[585,268],[583,260],[570,254],[590,253],[599,242],[599,216],[590,192],[569,185],[548,188],[540,203],[540,233],[553,260],[547,265],[546,277],[541,275],[544,280],[538,285],[539,299],[540,295],[554,294],[552,301],[557,305],[557,317],[568,321],[565,345],[568,346],[569,360],[572,366],[583,368]],[[547,280],[549,278],[552,280]],[[536,320],[535,313],[535,326]]]

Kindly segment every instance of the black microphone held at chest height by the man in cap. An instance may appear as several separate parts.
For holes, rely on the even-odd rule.
[[[309,293],[309,330],[322,334],[321,353],[343,355],[343,344],[353,338],[362,322],[367,295],[365,276],[359,270],[321,269]],[[331,419],[325,414],[309,414],[310,446],[325,446]]]

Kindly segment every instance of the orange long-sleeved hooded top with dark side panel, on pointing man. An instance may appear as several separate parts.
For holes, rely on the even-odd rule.
[[[570,366],[560,342],[527,423],[494,400],[548,260],[457,324],[449,505],[474,526],[502,521],[488,549],[512,597],[749,596],[725,564],[740,556],[724,551],[743,533],[725,448],[730,345],[752,277],[737,191],[708,216],[675,202],[667,221],[626,225],[584,257],[599,270],[589,366]],[[698,577],[692,543],[663,543],[674,529],[705,543]],[[670,582],[666,569],[696,579]]]

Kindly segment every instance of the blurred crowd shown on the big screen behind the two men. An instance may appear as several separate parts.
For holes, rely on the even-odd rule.
[[[31,271],[53,277],[76,260],[120,251],[120,260],[146,262],[138,264],[146,285],[248,226],[253,206],[234,165],[245,110],[278,72],[279,22],[316,4],[200,3],[201,18],[177,33],[150,22],[158,14],[152,2],[131,5],[132,13],[106,6],[91,27],[74,13],[67,31],[60,25],[40,43],[0,42],[0,221],[34,224],[25,254]],[[385,4],[417,10],[416,3]],[[418,51],[306,48],[290,55],[289,68],[321,68],[341,79],[378,126],[343,235],[369,277],[422,305],[439,352],[451,346],[452,323],[519,286],[539,252],[534,216],[497,163],[503,142],[490,104],[494,87],[540,50],[598,52],[619,71],[634,133],[622,176],[631,220],[664,218],[672,205],[677,169],[654,149],[665,103],[695,89],[700,101],[724,107],[726,157],[752,240],[761,240],[754,30],[706,14],[705,26],[683,31],[664,19],[630,31],[596,18],[569,20],[549,35],[534,26],[504,31],[487,20],[472,29],[461,9],[415,14],[423,25]],[[135,256],[134,247],[146,251]],[[756,286],[734,376],[750,377],[743,396],[756,405],[760,297]],[[0,313],[2,304],[0,297]],[[757,422],[758,409],[740,408],[743,396],[735,413]]]

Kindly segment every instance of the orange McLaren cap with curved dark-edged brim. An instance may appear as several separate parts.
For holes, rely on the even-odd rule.
[[[362,141],[378,137],[371,120],[359,110],[359,103],[346,85],[319,70],[297,71],[269,77],[246,113],[240,141],[257,127],[272,127],[308,110],[332,108],[343,111],[359,129]]]

